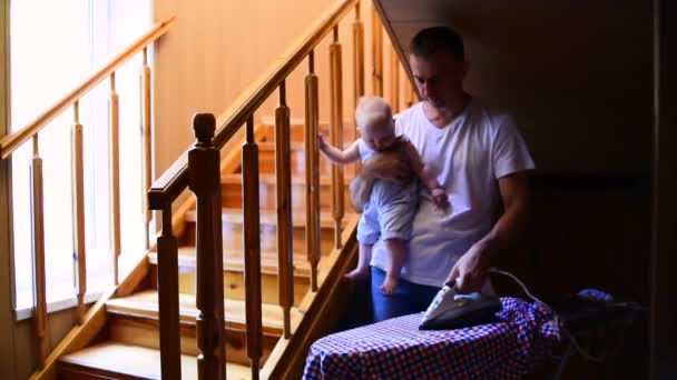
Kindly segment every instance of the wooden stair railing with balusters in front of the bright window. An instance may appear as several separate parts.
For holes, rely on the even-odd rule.
[[[143,52],[141,66],[141,129],[144,131],[144,176],[145,189],[150,187],[151,180],[151,160],[150,160],[150,68],[148,67],[147,52],[148,47],[164,36],[175,24],[175,18],[168,18],[159,23],[156,23],[147,33],[137,39],[134,43],[127,47],[117,57],[111,59],[97,72],[86,79],[75,90],[66,94],[61,100],[42,112],[35,121],[24,128],[7,134],[0,139],[0,159],[8,159],[12,153],[23,146],[29,140],[32,140],[32,160],[30,166],[30,206],[31,206],[31,244],[33,256],[33,274],[35,274],[35,299],[33,308],[33,336],[37,347],[37,361],[40,369],[45,368],[47,356],[49,353],[48,321],[47,321],[47,297],[46,297],[46,264],[45,264],[45,206],[43,206],[43,176],[42,176],[42,158],[39,149],[40,131],[55,118],[65,111],[72,110],[71,124],[71,162],[73,192],[73,257],[76,263],[76,291],[77,291],[77,316],[78,323],[82,324],[86,316],[85,294],[87,292],[87,259],[85,251],[85,227],[88,222],[85,220],[85,164],[84,164],[84,142],[82,131],[85,126],[80,123],[80,99],[89,93],[98,83],[104,80],[109,80],[109,133],[110,133],[110,214],[111,214],[111,237],[112,237],[112,254],[111,263],[114,268],[114,284],[119,282],[118,259],[120,256],[120,198],[119,198],[119,97],[116,92],[116,71]],[[150,223],[150,213],[146,213],[146,242],[148,242],[148,227]],[[47,226],[47,228],[55,228]],[[60,227],[56,227],[60,228]],[[112,284],[111,284],[112,286]]]

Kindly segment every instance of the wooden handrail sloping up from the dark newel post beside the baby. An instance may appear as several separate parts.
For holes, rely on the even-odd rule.
[[[246,101],[232,108],[233,112],[228,120],[218,129],[214,137],[214,144],[220,149],[235,134],[235,132],[246,122],[247,118],[254,114],[261,104],[273,91],[277,90],[279,83],[294,71],[294,69],[306,58],[306,56],[322,41],[322,39],[338,23],[344,14],[350,12],[360,0],[340,0],[330,8],[323,17],[318,18],[308,31],[291,44],[291,48],[282,56],[282,62],[275,62],[268,70],[258,77],[254,82],[254,91],[247,89],[251,96]],[[243,97],[241,97],[243,98]],[[168,202],[174,201],[188,183],[187,160],[184,158],[186,152],[169,167],[158,180],[153,183],[148,191],[148,204],[153,210],[160,210]]]

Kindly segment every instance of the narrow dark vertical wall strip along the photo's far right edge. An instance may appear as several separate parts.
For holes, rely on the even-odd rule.
[[[651,379],[674,379],[677,370],[677,4],[655,0],[656,127],[654,153],[654,223],[651,244]]]

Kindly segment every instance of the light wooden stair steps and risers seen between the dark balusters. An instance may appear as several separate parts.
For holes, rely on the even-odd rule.
[[[326,126],[321,127],[326,131]],[[283,310],[278,306],[277,289],[277,240],[275,209],[275,146],[274,127],[256,127],[259,147],[259,199],[261,199],[261,268],[262,314],[264,353],[261,367],[283,334]],[[292,124],[292,209],[293,209],[293,263],[294,307],[292,319],[300,318],[302,299],[310,291],[310,266],[305,254],[305,163],[302,123]],[[344,141],[353,139],[345,132]],[[235,144],[237,146],[237,144]],[[243,256],[243,209],[241,154],[228,154],[222,162],[222,222],[224,247],[224,307],[226,342],[226,371],[229,379],[251,378],[246,350],[245,330],[245,281]],[[352,168],[345,170],[345,183],[352,177]],[[331,213],[330,163],[321,159],[321,251],[324,258],[334,248],[334,220]],[[347,190],[347,186],[344,186]],[[344,192],[346,193],[346,192]],[[347,198],[345,198],[347,200]],[[190,202],[190,201],[187,201]],[[187,203],[189,204],[189,203]],[[350,203],[347,203],[350,204]],[[179,321],[181,378],[197,378],[198,354],[196,341],[196,211],[185,208],[183,217],[175,218],[174,230],[178,231],[179,267]],[[346,213],[352,213],[346,207]],[[345,227],[344,218],[342,223]],[[157,292],[157,253],[147,254],[148,271],[144,281],[126,297],[106,302],[106,324],[92,342],[78,351],[59,359],[58,373],[68,379],[159,379],[160,334]],[[321,259],[322,262],[322,259]]]

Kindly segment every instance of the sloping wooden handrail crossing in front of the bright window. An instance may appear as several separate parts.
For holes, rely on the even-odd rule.
[[[0,159],[4,160],[10,157],[14,150],[38,133],[52,119],[72,106],[72,103],[79,100],[99,82],[108,78],[108,76],[115,72],[115,70],[117,70],[120,66],[129,61],[137,52],[141,51],[148,44],[153,43],[155,40],[165,34],[174,26],[174,23],[176,23],[176,17],[170,17],[156,23],[150,31],[141,36],[141,38],[136,40],[136,42],[130,44],[110,62],[85,80],[63,99],[59,100],[55,106],[50,107],[47,111],[40,114],[33,122],[14,133],[2,137],[2,139],[0,139]]]

